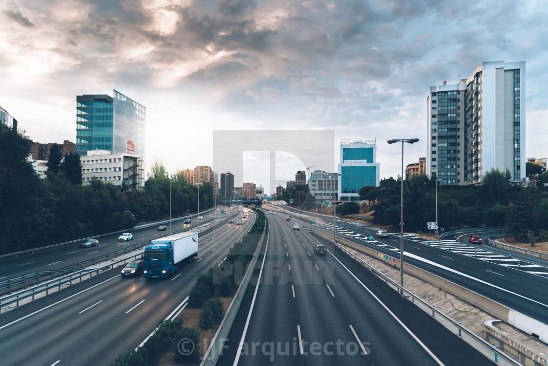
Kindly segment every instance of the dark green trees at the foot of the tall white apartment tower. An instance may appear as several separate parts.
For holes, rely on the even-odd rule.
[[[415,175],[403,181],[404,222],[410,231],[424,230],[436,221],[436,176]],[[379,187],[362,187],[360,198],[369,201],[374,223],[398,227],[401,180],[383,179]],[[548,227],[548,192],[517,187],[510,171],[489,171],[481,186],[437,187],[438,227],[508,226],[516,239]]]

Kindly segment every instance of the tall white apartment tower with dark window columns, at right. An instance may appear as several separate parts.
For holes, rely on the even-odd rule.
[[[459,84],[430,87],[427,174],[442,184],[481,184],[492,168],[526,176],[525,61],[483,62]]]

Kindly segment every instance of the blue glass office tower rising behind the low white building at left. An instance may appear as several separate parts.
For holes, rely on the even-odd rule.
[[[76,152],[90,150],[145,157],[146,107],[113,90],[76,96]]]

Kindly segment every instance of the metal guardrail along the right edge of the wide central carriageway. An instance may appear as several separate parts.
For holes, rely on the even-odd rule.
[[[480,336],[478,336],[476,333],[473,333],[468,328],[461,325],[459,322],[455,322],[454,319],[450,318],[443,312],[437,310],[437,308],[433,305],[430,305],[428,302],[424,301],[423,299],[419,298],[419,296],[416,296],[415,293],[407,290],[404,287],[401,287],[399,283],[393,281],[391,278],[386,276],[384,273],[378,271],[375,267],[370,266],[366,261],[359,258],[356,254],[352,253],[350,250],[343,247],[343,244],[335,243],[333,240],[330,240],[335,245],[335,248],[340,249],[344,251],[347,255],[350,256],[353,260],[358,262],[364,267],[367,267],[367,269],[375,274],[375,276],[384,279],[384,282],[395,289],[398,292],[403,291],[406,293],[405,298],[410,299],[413,304],[421,308],[427,313],[431,313],[433,318],[436,318],[436,320],[441,323],[444,327],[446,327],[448,330],[452,331],[455,335],[458,335],[460,338],[465,340],[467,343],[472,345],[472,347],[476,348],[476,350],[482,352],[486,357],[489,358],[489,355],[494,356],[494,360],[500,364],[503,365],[512,365],[512,366],[519,366],[521,363],[517,362],[515,359],[504,353],[503,351],[499,350],[495,346],[491,345],[486,340],[482,339]],[[493,361],[493,360],[492,360]]]

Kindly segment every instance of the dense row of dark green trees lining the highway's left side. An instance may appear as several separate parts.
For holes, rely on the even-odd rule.
[[[174,217],[197,210],[198,187],[181,170],[168,175],[161,162],[153,164],[141,191],[99,180],[82,186],[79,155],[65,155],[61,162],[54,145],[47,178],[39,179],[27,160],[30,147],[30,140],[0,124],[0,254],[169,218],[170,197]],[[201,185],[199,196],[200,210],[213,206],[210,182]]]

